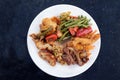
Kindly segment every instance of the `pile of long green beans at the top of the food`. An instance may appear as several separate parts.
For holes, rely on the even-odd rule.
[[[67,16],[68,17],[68,16]],[[65,37],[70,37],[68,29],[71,27],[87,28],[90,24],[90,19],[87,19],[86,16],[78,16],[77,19],[61,20],[60,29],[63,35],[59,38],[58,41],[62,41]]]

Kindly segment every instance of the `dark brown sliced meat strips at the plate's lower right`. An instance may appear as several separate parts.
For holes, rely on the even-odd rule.
[[[72,47],[64,47],[63,52],[64,54],[62,58],[68,65],[77,63],[78,65],[82,66],[89,60],[85,50],[78,51]]]

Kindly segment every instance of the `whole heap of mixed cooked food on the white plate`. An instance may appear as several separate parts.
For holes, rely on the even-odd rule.
[[[83,15],[72,16],[70,11],[44,18],[40,32],[30,36],[39,49],[39,56],[51,66],[56,62],[84,65],[95,47],[93,43],[100,38],[97,30],[93,31],[90,19]]]

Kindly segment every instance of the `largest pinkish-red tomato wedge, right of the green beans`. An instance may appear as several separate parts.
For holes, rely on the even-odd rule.
[[[80,37],[80,36],[86,35],[86,34],[88,34],[90,32],[92,32],[92,28],[91,27],[81,28],[81,29],[78,29],[78,31],[76,33],[76,36]]]

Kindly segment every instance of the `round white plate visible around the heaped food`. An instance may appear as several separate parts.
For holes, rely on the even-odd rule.
[[[31,23],[29,31],[28,31],[28,35],[27,35],[28,51],[29,51],[29,54],[30,54],[33,62],[42,71],[46,72],[47,74],[50,74],[50,75],[56,76],[56,77],[64,77],[64,78],[73,77],[78,74],[81,74],[92,66],[92,64],[95,62],[95,60],[99,54],[101,39],[99,39],[94,44],[95,49],[91,51],[92,54],[90,56],[90,60],[85,65],[83,65],[83,66],[78,66],[78,65],[68,66],[68,65],[61,65],[61,64],[57,63],[56,66],[52,67],[45,60],[43,60],[42,58],[40,58],[38,56],[38,49],[36,48],[34,42],[32,41],[32,39],[29,35],[32,33],[38,33],[40,31],[39,25],[43,18],[58,16],[60,13],[66,12],[66,11],[71,11],[71,13],[72,13],[71,15],[75,15],[75,16],[77,16],[77,15],[87,16],[87,18],[91,19],[90,23],[92,23],[92,29],[98,30],[98,33],[99,33],[97,24],[95,23],[93,18],[87,12],[85,12],[83,9],[78,8],[76,6],[72,6],[72,5],[60,4],[60,5],[51,6],[47,9],[43,10],[42,12],[40,12],[35,17],[33,22]]]

